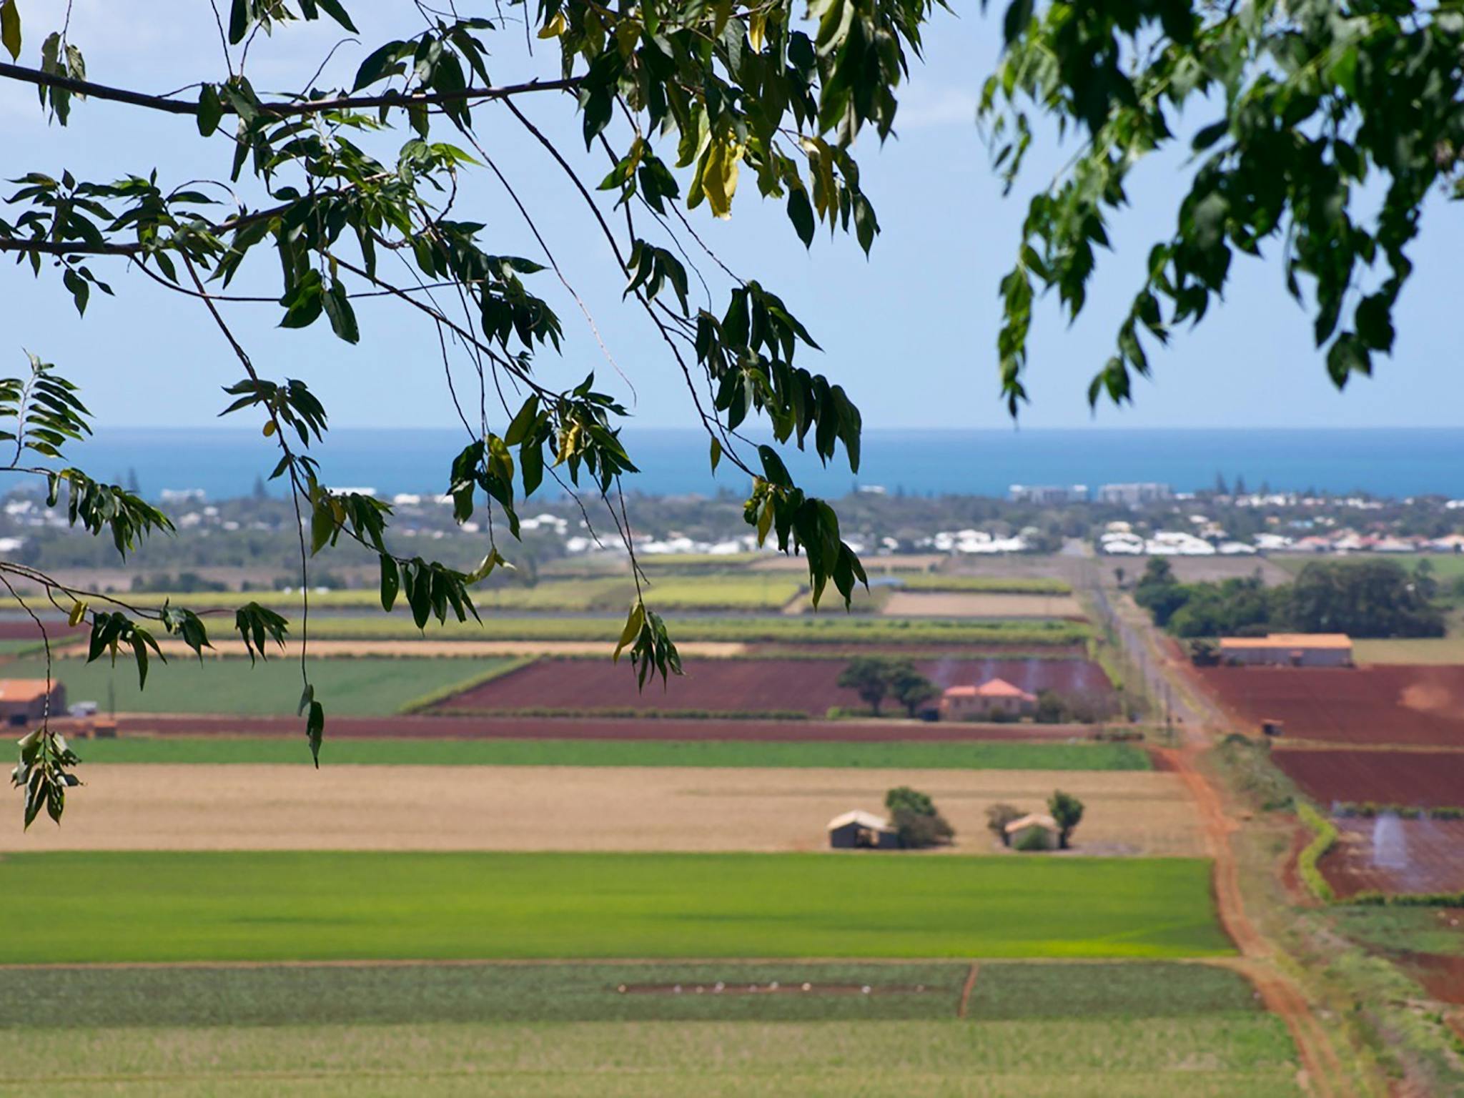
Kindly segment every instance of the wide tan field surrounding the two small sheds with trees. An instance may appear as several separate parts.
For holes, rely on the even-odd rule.
[[[956,852],[996,849],[988,805],[1042,810],[1056,788],[1086,805],[1082,854],[1203,854],[1183,783],[1155,772],[97,764],[85,780],[64,827],[13,821],[0,852],[817,851],[830,818],[912,785]]]

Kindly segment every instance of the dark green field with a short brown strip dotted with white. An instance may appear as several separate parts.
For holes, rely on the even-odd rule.
[[[0,1029],[943,1019],[960,1013],[969,972],[804,960],[0,969]],[[1212,965],[982,962],[976,975],[966,1016],[987,1022],[1261,1009],[1249,981]]]

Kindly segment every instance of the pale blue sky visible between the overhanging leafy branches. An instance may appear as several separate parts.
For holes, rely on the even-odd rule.
[[[20,7],[22,60],[34,64],[41,37],[59,23],[64,6],[22,0]],[[370,44],[416,29],[404,3],[356,0],[351,12],[367,45],[343,45],[322,85],[332,78],[347,82]],[[807,365],[842,382],[871,427],[1010,426],[996,375],[996,288],[1015,252],[1025,199],[1001,198],[974,124],[979,83],[997,57],[998,20],[982,18],[975,4],[962,12],[959,19],[938,16],[930,29],[925,63],[916,63],[902,95],[899,138],[883,149],[874,141],[858,148],[864,187],[884,228],[868,261],[843,236],[821,234],[805,253],[782,203],[761,203],[750,177],[744,177],[731,221],[712,221],[704,206],[691,215],[723,259],[788,300],[824,348]],[[338,37],[332,25],[296,25],[262,40],[250,57],[256,86],[303,82]],[[105,83],[168,91],[223,75],[212,15],[198,0],[155,0],[145,9],[76,0],[72,40],[85,51],[91,78]],[[495,81],[556,73],[556,53],[545,44],[537,57],[524,57],[520,28],[490,35],[490,45],[496,48]],[[526,110],[562,136],[565,148],[577,148],[568,101],[543,95]],[[568,340],[564,360],[543,357],[540,370],[574,382],[594,369],[632,406],[638,423],[691,425],[690,398],[675,365],[644,315],[621,305],[621,278],[606,246],[558,168],[504,111],[485,105],[476,119],[479,139],[534,209],[628,382],[609,369],[572,300],[556,293],[548,272],[540,275],[540,293],[559,307]],[[1192,117],[1184,124],[1208,120]],[[0,83],[0,148],[7,177],[70,168],[81,177],[110,179],[157,165],[164,180],[183,182],[225,177],[230,157],[225,138],[202,142],[187,117],[114,104],[76,104],[69,129],[47,127],[34,89],[15,83]],[[1032,157],[1029,180],[1045,180],[1064,157],[1066,151],[1045,142]],[[596,180],[605,171],[599,160],[580,157],[577,163]],[[1446,305],[1454,297],[1451,275],[1464,252],[1464,230],[1442,201],[1430,205],[1424,236],[1413,249],[1417,268],[1398,316],[1398,346],[1392,359],[1381,362],[1375,381],[1354,382],[1338,395],[1312,348],[1307,316],[1282,288],[1280,266],[1243,261],[1225,306],[1198,332],[1180,334],[1168,350],[1152,354],[1157,376],[1139,382],[1136,404],[1091,414],[1088,379],[1110,353],[1116,318],[1127,306],[1148,244],[1173,227],[1181,167],[1180,158],[1140,167],[1133,206],[1116,221],[1116,252],[1101,258],[1089,307],[1076,325],[1067,326],[1056,302],[1039,303],[1029,378],[1034,400],[1022,413],[1023,426],[1464,426],[1464,376],[1454,363],[1457,324]],[[259,205],[259,192],[249,199]],[[474,170],[466,182],[458,215],[488,224],[490,249],[539,258],[486,170]],[[28,268],[4,268],[0,354],[13,362],[3,369],[22,367],[22,346],[59,363],[85,386],[104,425],[214,423],[224,400],[220,386],[240,370],[202,307],[120,265],[94,268],[119,296],[95,294],[83,321],[76,319],[57,278],[42,275],[37,283]],[[272,259],[261,255],[240,283],[275,293]],[[717,303],[720,309],[725,294],[717,294]],[[332,423],[449,426],[433,329],[391,302],[363,305],[360,316],[362,344],[347,347],[329,337],[324,321],[307,332],[283,332],[274,326],[278,312],[272,306],[244,305],[233,312],[261,370],[309,381]]]

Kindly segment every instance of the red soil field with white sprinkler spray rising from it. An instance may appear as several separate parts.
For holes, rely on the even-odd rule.
[[[1464,820],[1335,820],[1341,833],[1318,868],[1340,899],[1464,890]]]

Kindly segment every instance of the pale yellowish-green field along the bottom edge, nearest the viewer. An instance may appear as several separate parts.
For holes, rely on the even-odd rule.
[[[979,1085],[976,1085],[979,1080]],[[0,1092],[1299,1098],[1280,1019],[0,1031]]]

